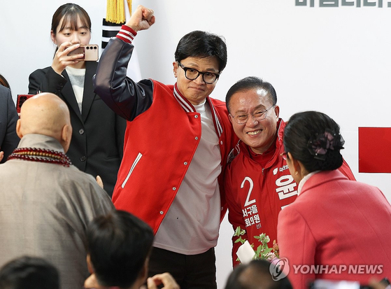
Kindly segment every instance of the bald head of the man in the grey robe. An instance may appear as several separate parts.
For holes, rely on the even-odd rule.
[[[57,95],[48,92],[27,99],[20,109],[17,134],[20,138],[26,134],[51,136],[67,151],[72,134],[68,107]]]

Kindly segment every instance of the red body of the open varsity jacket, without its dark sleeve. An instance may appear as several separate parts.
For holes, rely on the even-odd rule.
[[[124,157],[113,193],[116,209],[129,211],[156,233],[201,139],[201,118],[173,85],[153,81],[152,104],[127,122]],[[207,98],[211,106],[222,157],[222,184],[234,132],[225,103]],[[224,192],[220,186],[220,193]],[[222,198],[221,218],[226,206]]]

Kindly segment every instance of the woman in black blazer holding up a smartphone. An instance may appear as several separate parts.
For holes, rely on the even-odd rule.
[[[55,57],[51,66],[31,73],[29,94],[52,92],[66,102],[73,127],[67,155],[81,171],[101,176],[111,196],[122,159],[126,121],[93,91],[97,62],[84,61],[83,53],[69,55],[90,43],[90,16],[77,4],[66,3],[52,17],[50,36],[57,45]]]

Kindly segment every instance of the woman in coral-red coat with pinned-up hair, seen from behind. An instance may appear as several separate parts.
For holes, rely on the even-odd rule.
[[[278,245],[293,288],[391,277],[391,206],[378,188],[341,174],[343,143],[324,113],[296,113],[285,127],[283,155],[299,195],[280,211]]]

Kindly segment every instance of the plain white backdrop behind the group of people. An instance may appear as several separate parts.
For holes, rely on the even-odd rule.
[[[296,1],[305,6],[295,6]],[[51,17],[63,3],[1,0],[0,73],[14,98],[28,92],[29,73],[50,66],[55,50]],[[92,18],[91,43],[100,45],[106,1],[76,3]],[[134,0],[133,7],[139,3],[155,10],[156,16],[155,25],[140,31],[134,41],[143,78],[174,83],[173,52],[187,32],[199,29],[225,36],[228,63],[213,97],[223,100],[237,80],[260,76],[276,88],[285,120],[298,111],[327,113],[341,125],[343,155],[357,180],[378,186],[391,200],[389,174],[358,173],[357,129],[391,126],[388,1]],[[337,7],[321,6],[327,3]],[[347,3],[353,6],[343,6]],[[232,269],[231,236],[225,220],[216,248],[219,288]]]

